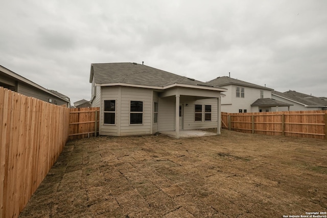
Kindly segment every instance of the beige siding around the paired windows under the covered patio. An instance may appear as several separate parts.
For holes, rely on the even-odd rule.
[[[185,106],[185,104],[189,106]],[[186,102],[184,104],[184,130],[190,129],[206,129],[206,128],[217,128],[217,99],[204,99],[192,102]],[[202,105],[202,121],[194,121],[194,108],[195,105]],[[211,121],[204,121],[204,106],[211,105]]]

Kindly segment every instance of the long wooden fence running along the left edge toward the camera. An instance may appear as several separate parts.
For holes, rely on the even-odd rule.
[[[68,139],[69,109],[0,87],[0,217],[18,217]]]

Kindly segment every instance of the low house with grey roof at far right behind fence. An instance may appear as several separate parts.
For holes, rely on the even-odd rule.
[[[293,104],[290,107],[290,110],[293,111],[327,110],[327,101],[309,94],[303,94],[296,91],[272,91],[272,98],[275,100]]]

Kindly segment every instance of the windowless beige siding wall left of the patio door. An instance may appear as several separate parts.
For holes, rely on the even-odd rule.
[[[158,131],[175,130],[175,96],[159,98]]]

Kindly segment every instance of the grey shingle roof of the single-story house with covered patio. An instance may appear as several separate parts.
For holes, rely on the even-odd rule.
[[[165,87],[172,84],[193,85],[199,87],[219,86],[201,82],[172,74],[164,70],[156,69],[147,65],[137,63],[95,63],[91,64],[89,82],[95,80],[98,84],[132,84],[142,86]]]

